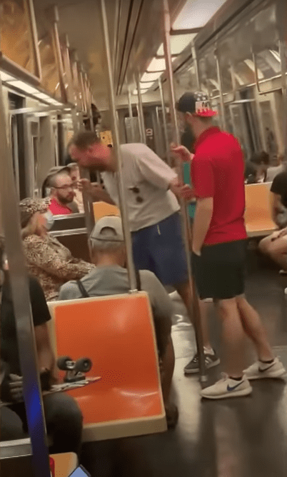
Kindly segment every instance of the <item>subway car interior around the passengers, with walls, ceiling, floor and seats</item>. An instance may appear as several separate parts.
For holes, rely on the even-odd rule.
[[[276,172],[271,171],[283,174],[287,164],[286,75],[286,0],[0,0],[0,235],[9,263],[9,271],[1,266],[0,276],[2,286],[9,273],[27,421],[21,438],[1,436],[2,477],[286,477],[284,376],[255,381],[251,396],[201,398],[201,388],[224,371],[222,325],[207,299],[211,346],[221,357],[218,366],[207,366],[189,265],[193,324],[176,288],[166,287],[175,352],[171,401],[178,408],[178,421],[167,425],[153,308],[136,281],[120,147],[145,144],[189,184],[187,169],[171,154],[171,144],[186,145],[176,101],[186,91],[206,95],[217,113],[213,125],[236,137],[246,165],[253,167],[254,176],[246,174],[244,184],[246,296],[266,327],[273,353],[287,367],[287,248],[280,261],[259,245],[278,230],[271,210]],[[79,358],[92,361],[91,368],[82,363],[89,369],[89,386],[73,389],[66,383],[57,394],[72,396],[84,416],[76,455],[68,447],[51,451],[56,445],[50,446],[44,412],[19,202],[44,199],[51,168],[74,162],[71,140],[79,131],[94,132],[113,150],[120,206],[93,201],[83,191],[82,209],[55,216],[48,235],[76,260],[91,262],[94,225],[103,216],[121,216],[130,293],[67,303],[47,298],[54,354],[66,356],[69,369],[80,370],[59,365],[61,381],[63,370],[66,376],[81,375]],[[259,171],[253,158],[263,151],[268,165]],[[100,187],[106,173],[80,168],[80,174],[81,181]],[[285,184],[282,198],[287,179]],[[192,204],[180,200],[188,264]],[[285,226],[287,219],[279,229]],[[196,351],[198,372],[184,373]],[[253,358],[246,339],[244,366]],[[4,373],[1,369],[1,384]],[[1,421],[6,401],[1,396]],[[12,418],[9,425],[15,422]]]

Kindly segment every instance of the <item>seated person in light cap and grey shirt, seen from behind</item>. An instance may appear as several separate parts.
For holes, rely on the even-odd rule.
[[[94,226],[90,236],[92,260],[96,268],[78,283],[70,281],[61,287],[59,300],[72,300],[87,296],[106,296],[129,293],[129,276],[126,270],[126,247],[121,219],[106,216]],[[172,304],[156,276],[148,270],[138,274],[139,288],[148,293],[156,328],[158,352],[162,363],[162,391],[168,425],[177,421],[178,411],[170,403],[171,381],[174,368],[174,351],[171,340]]]

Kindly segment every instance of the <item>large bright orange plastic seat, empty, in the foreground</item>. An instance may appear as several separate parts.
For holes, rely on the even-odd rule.
[[[146,293],[51,302],[49,307],[56,355],[89,357],[93,367],[87,376],[101,376],[69,391],[84,415],[84,441],[166,431]]]

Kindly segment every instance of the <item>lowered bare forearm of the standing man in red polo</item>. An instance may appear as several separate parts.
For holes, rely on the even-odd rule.
[[[192,250],[196,255],[201,254],[201,248],[206,238],[213,214],[213,197],[198,199],[196,214],[193,222]]]

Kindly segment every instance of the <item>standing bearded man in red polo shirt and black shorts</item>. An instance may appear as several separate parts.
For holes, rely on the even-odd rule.
[[[258,313],[244,296],[246,229],[244,162],[231,134],[212,124],[216,114],[203,93],[186,93],[177,104],[180,121],[196,137],[191,179],[197,199],[193,223],[193,275],[201,299],[213,298],[223,328],[226,378],[204,389],[204,398],[247,396],[248,380],[278,378],[286,373],[274,358]],[[183,146],[174,149],[190,160]],[[258,361],[243,371],[244,332],[253,341]]]

